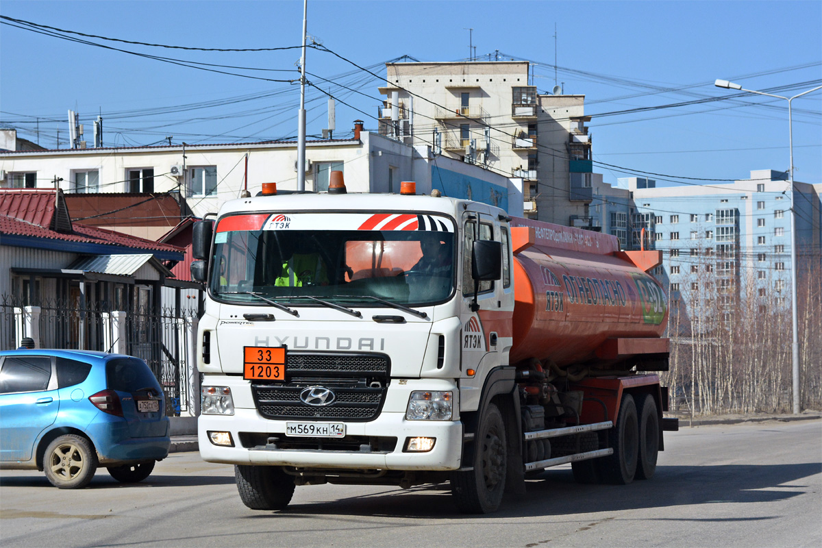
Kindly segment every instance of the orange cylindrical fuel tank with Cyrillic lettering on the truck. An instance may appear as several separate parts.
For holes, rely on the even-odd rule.
[[[614,363],[667,352],[667,299],[647,270],[661,251],[620,251],[617,237],[513,219],[515,307],[510,363]],[[653,340],[656,339],[656,340]]]

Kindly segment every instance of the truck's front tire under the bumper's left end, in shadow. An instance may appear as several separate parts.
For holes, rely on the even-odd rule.
[[[252,510],[281,510],[294,494],[293,479],[274,466],[234,466],[234,480],[242,504]]]

